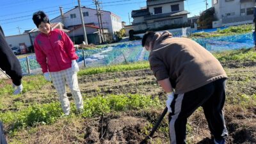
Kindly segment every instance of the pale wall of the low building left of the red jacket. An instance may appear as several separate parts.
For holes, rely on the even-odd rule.
[[[6,36],[6,42],[10,47],[19,47],[20,43],[25,43],[27,47],[31,46],[30,38],[28,34]]]

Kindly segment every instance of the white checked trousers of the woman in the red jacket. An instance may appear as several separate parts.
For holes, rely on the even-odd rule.
[[[83,109],[83,98],[78,87],[77,73],[72,68],[61,70],[60,72],[51,72],[52,82],[59,94],[61,108],[64,113],[70,112],[70,103],[66,92],[66,82],[72,93],[77,109]]]

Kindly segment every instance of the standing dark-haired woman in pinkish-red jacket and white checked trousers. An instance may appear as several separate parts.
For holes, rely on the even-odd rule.
[[[41,32],[34,41],[36,60],[42,68],[45,79],[47,81],[52,79],[63,112],[65,115],[70,114],[66,83],[71,90],[77,111],[83,112],[83,98],[77,81],[78,57],[72,41],[60,29],[51,29],[49,18],[42,11],[33,14],[33,22]]]

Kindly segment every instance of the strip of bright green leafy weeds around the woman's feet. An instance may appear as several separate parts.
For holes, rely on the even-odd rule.
[[[17,106],[20,103],[17,103]],[[156,108],[159,99],[151,99],[145,95],[108,95],[97,96],[84,100],[84,117],[92,117],[110,113],[113,111],[125,111],[132,109]],[[74,104],[71,104],[74,109]],[[10,131],[22,127],[34,127],[36,124],[52,124],[61,117],[62,109],[60,102],[49,104],[34,104],[20,111],[7,111],[0,113],[4,124],[9,125]]]

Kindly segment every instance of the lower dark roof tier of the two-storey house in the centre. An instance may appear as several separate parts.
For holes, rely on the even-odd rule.
[[[164,17],[173,17],[177,15],[186,15],[189,12],[186,10],[180,11],[180,12],[171,12],[171,13],[163,13],[163,14],[158,14],[158,15],[148,15],[144,17],[144,20],[151,20],[151,19],[161,19]]]

